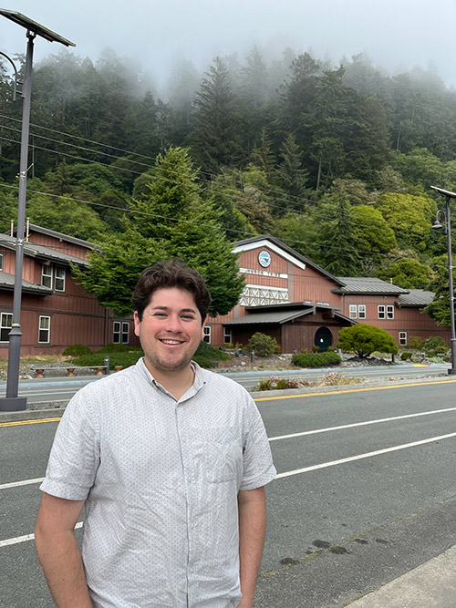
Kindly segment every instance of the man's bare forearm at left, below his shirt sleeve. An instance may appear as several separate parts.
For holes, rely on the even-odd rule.
[[[78,542],[73,531],[36,529],[36,551],[57,608],[92,608]]]

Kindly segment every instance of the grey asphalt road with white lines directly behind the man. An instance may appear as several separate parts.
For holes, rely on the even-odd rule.
[[[454,382],[259,397],[278,476],[255,606],[343,606],[456,544]],[[34,528],[37,483],[16,484],[43,476],[56,427],[0,427],[0,484],[13,484],[0,485],[8,608],[52,605],[21,539]]]

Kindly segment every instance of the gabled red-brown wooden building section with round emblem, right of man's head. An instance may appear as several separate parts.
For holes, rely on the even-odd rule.
[[[209,319],[204,339],[215,346],[246,345],[255,332],[273,335],[284,353],[336,346],[341,328],[377,325],[399,346],[410,336],[440,335],[450,328],[421,311],[433,294],[375,278],[337,277],[270,235],[235,243],[245,287],[230,314]]]

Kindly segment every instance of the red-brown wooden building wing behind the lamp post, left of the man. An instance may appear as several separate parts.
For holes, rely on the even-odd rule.
[[[97,349],[109,342],[136,344],[131,319],[114,317],[78,285],[70,264],[88,265],[96,247],[30,224],[24,245],[21,354],[61,353],[68,345]],[[0,234],[0,357],[8,354],[13,321],[16,238]]]

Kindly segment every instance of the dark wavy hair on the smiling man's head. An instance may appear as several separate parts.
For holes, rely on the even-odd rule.
[[[204,321],[211,304],[211,294],[209,294],[202,275],[189,268],[179,258],[154,263],[140,274],[132,297],[134,309],[138,313],[140,321],[142,321],[144,309],[150,304],[152,294],[156,289],[162,287],[177,287],[192,294],[202,321]]]

